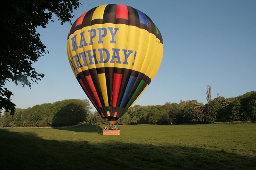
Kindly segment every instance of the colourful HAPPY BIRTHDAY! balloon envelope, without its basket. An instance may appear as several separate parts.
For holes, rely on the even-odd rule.
[[[143,12],[125,5],[101,5],[74,22],[67,53],[93,106],[115,124],[156,75],[163,39]]]

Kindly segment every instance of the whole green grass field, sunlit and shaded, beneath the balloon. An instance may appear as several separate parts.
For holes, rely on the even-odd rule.
[[[118,127],[0,128],[0,169],[256,169],[256,124]]]

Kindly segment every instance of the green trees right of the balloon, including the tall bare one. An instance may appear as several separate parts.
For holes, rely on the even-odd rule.
[[[132,106],[121,118],[121,124],[209,124],[215,122],[256,123],[256,92],[238,97],[211,99],[208,86],[207,104],[196,100],[164,105]],[[207,93],[206,93],[207,94]]]

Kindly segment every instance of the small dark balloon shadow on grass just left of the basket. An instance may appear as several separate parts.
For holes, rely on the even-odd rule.
[[[101,133],[104,125],[78,125],[73,128],[55,128],[59,130],[68,130],[73,132]],[[101,128],[102,127],[102,128]]]

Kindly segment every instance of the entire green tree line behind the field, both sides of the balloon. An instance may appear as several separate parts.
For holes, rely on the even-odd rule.
[[[252,122],[256,123],[256,92],[247,92],[238,97],[208,98],[207,104],[196,100],[180,103],[167,102],[164,105],[132,106],[118,124],[209,124],[215,122]],[[35,105],[32,108],[16,108],[14,116],[4,112],[0,118],[1,127],[36,126],[61,127],[83,122],[84,124],[108,124],[100,114],[91,111],[86,99],[70,99]]]

